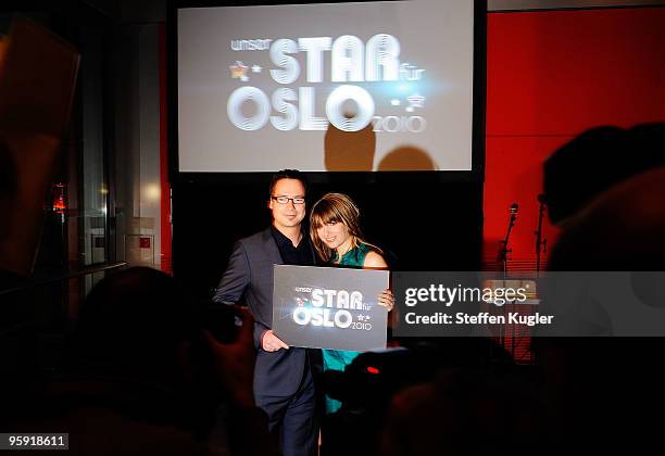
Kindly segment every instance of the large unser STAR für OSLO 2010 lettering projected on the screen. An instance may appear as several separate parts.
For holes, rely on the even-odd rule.
[[[400,42],[392,35],[378,34],[367,42],[353,35],[335,40],[237,39],[230,48],[243,53],[242,60],[229,65],[229,76],[246,84],[231,92],[226,106],[230,123],[239,129],[259,130],[269,123],[283,131],[326,130],[331,124],[343,131],[359,131],[372,123],[375,131],[422,132],[427,126],[418,113],[426,103],[418,85],[425,69],[400,62]],[[290,86],[304,73],[306,84],[277,87],[269,97],[256,87],[264,85],[252,85],[252,78],[262,74],[256,62],[262,62],[265,52],[273,66],[267,72],[273,83]],[[304,72],[297,59],[301,53]],[[317,105],[316,97],[322,93],[325,103]],[[379,110],[390,110],[381,114],[391,115],[377,115]]]

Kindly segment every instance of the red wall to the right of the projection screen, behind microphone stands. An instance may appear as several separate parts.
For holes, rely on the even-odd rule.
[[[517,265],[535,259],[543,159],[590,127],[665,121],[665,8],[490,13],[487,41],[485,256],[517,202]]]

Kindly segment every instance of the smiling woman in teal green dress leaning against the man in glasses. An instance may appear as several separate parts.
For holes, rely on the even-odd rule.
[[[371,269],[387,269],[381,250],[363,239],[360,229],[360,211],[355,203],[342,193],[327,193],[312,207],[310,236],[318,257],[328,265]],[[378,296],[380,305],[390,312],[394,296],[384,290]],[[323,351],[324,371],[340,370],[360,354],[342,350]],[[341,403],[326,396],[326,413],[332,414]]]

